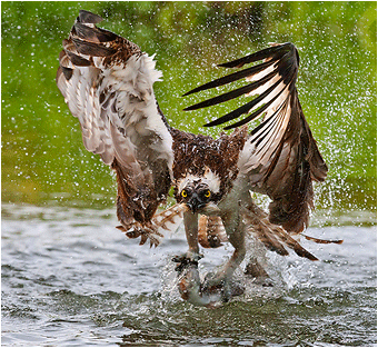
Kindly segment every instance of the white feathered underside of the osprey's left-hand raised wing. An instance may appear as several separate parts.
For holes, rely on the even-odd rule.
[[[115,157],[126,165],[131,155],[137,157],[137,147],[149,143],[150,158],[167,160],[171,170],[172,137],[156,103],[153,83],[162,74],[155,69],[153,56],[135,54],[126,62],[107,64],[103,57],[92,57],[92,61],[94,67],[73,67],[72,77],[58,83],[80,121],[84,147],[107,165]],[[101,93],[106,97],[102,105]],[[148,142],[152,138],[153,143]]]

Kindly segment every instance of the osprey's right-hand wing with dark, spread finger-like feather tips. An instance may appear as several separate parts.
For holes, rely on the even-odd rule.
[[[312,180],[325,180],[328,168],[312,138],[298,99],[296,81],[299,56],[292,43],[272,44],[220,67],[240,68],[259,60],[263,61],[200,86],[187,95],[243,78],[250,83],[186,110],[215,106],[239,96],[257,96],[206,126],[222,125],[247,115],[226,127],[229,129],[263,116],[261,123],[251,131],[240,152],[239,179],[248,189],[266,193],[272,199],[269,207],[271,222],[297,233],[308,225],[309,208],[312,207]]]

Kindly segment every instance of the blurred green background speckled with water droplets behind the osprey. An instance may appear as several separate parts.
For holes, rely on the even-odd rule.
[[[173,127],[201,125],[243,100],[195,112],[181,98],[225,73],[216,63],[294,42],[301,58],[299,97],[329,166],[316,206],[338,215],[376,212],[377,3],[370,2],[1,2],[2,202],[109,208],[110,169],[84,150],[78,120],[54,77],[61,41],[80,9],[99,26],[156,53],[155,86]],[[242,99],[242,98],[241,98]]]

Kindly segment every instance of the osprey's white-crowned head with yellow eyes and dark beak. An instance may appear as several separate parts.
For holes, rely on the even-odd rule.
[[[177,186],[176,199],[178,202],[186,205],[192,212],[213,212],[219,209],[217,202],[219,201],[219,179],[205,177],[187,176],[180,180]]]

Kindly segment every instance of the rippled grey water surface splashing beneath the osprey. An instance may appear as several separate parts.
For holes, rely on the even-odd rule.
[[[345,242],[302,241],[318,262],[268,252],[275,286],[262,288],[239,271],[246,295],[213,310],[183,302],[176,289],[170,259],[187,247],[181,225],[156,249],[139,247],[115,226],[113,209],[2,206],[3,346],[377,342],[370,223],[310,228],[308,235]],[[201,274],[231,250],[206,250]]]

